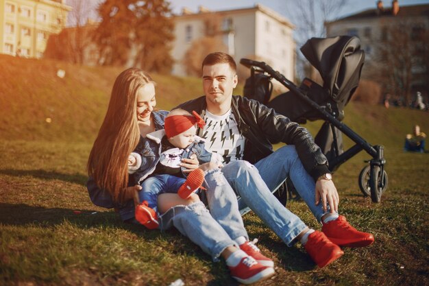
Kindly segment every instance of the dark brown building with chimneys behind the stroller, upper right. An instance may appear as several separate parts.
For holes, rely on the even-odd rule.
[[[380,83],[382,91],[402,97],[409,104],[417,91],[428,96],[429,4],[386,7],[377,1],[373,9],[326,23],[328,36],[360,38],[365,50],[363,78]]]

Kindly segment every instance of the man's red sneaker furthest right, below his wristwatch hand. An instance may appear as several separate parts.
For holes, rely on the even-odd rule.
[[[369,246],[374,242],[374,236],[371,233],[362,233],[356,230],[356,228],[350,226],[343,215],[323,224],[321,230],[337,246],[358,248]]]

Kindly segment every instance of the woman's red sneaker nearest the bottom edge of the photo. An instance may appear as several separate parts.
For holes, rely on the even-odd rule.
[[[243,284],[252,284],[269,278],[274,274],[273,267],[264,266],[253,257],[243,257],[238,265],[229,266],[229,268],[232,278]]]

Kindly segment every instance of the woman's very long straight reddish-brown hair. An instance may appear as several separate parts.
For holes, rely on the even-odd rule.
[[[106,117],[88,158],[88,175],[115,202],[123,202],[128,184],[127,160],[140,139],[137,122],[137,91],[153,83],[140,69],[126,69],[114,82]]]

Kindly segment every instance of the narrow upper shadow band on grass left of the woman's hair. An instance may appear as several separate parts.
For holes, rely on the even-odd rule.
[[[62,174],[57,171],[38,170],[16,170],[16,169],[0,169],[0,174],[8,176],[32,176],[42,180],[62,180],[64,182],[72,182],[74,184],[86,185],[88,176],[82,174]]]

